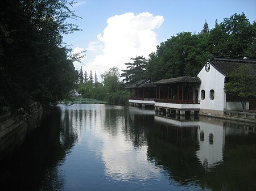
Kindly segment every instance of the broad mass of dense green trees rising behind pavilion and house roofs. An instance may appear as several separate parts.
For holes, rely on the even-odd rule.
[[[180,32],[156,46],[149,55],[147,77],[153,82],[184,75],[195,76],[209,54],[256,58],[256,24],[245,14],[234,14],[209,29],[205,21],[198,34]]]

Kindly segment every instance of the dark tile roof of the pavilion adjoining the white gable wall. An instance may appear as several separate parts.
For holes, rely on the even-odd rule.
[[[201,79],[199,77],[177,77],[170,79],[161,79],[154,84],[171,84],[171,83],[201,83]]]

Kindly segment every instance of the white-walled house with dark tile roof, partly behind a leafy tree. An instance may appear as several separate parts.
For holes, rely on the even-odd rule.
[[[223,116],[226,110],[242,110],[240,100],[226,95],[224,86],[226,75],[243,64],[248,65],[256,74],[256,60],[209,57],[208,61],[197,74],[201,79],[199,88],[200,114]],[[256,109],[256,101],[250,100],[247,109]]]

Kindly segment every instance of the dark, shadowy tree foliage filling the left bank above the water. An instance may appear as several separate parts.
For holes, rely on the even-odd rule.
[[[27,113],[31,104],[70,95],[77,73],[62,35],[79,28],[67,22],[78,18],[69,7],[64,0],[0,2],[2,112]]]

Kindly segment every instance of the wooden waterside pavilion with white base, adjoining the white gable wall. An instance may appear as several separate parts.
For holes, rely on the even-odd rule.
[[[171,112],[180,115],[198,113],[200,83],[198,77],[177,77],[155,82],[155,111],[166,116]]]

